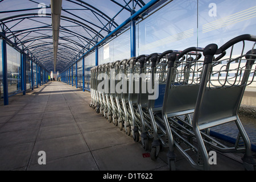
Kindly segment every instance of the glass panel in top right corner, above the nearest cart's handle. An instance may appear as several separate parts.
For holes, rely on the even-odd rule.
[[[199,2],[199,46],[205,47],[210,43],[222,46],[235,36],[255,34],[255,1]]]

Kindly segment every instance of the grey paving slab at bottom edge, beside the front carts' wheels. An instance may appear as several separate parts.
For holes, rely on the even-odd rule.
[[[142,146],[134,142],[92,151],[101,171],[150,171],[167,165],[163,160],[144,158],[144,153]]]

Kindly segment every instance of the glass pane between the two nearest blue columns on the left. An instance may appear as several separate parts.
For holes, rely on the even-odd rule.
[[[20,52],[14,48],[7,47],[7,78],[8,78],[8,92],[14,94],[21,90],[21,75],[20,75]]]

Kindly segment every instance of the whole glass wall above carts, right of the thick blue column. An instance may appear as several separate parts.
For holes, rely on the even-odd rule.
[[[256,1],[174,0],[137,22],[137,55],[219,47],[242,34],[256,34]]]

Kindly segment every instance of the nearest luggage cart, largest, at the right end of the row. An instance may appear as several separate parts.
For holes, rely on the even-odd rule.
[[[242,152],[245,169],[254,170],[255,160],[251,154],[250,140],[238,117],[238,109],[247,85],[255,77],[256,36],[240,35],[226,42],[217,49],[216,44],[211,47],[211,55],[220,55],[227,52],[228,58],[221,60],[222,65],[211,57],[205,56],[201,84],[193,114],[192,126],[199,150],[203,158],[204,169],[209,169],[207,148],[221,152]],[[235,55],[239,50],[240,55]],[[216,51],[216,52],[215,52]],[[204,50],[208,55],[209,50]],[[238,134],[237,141],[232,147],[215,142],[210,135],[210,128],[236,123]],[[202,131],[205,130],[205,133]]]

